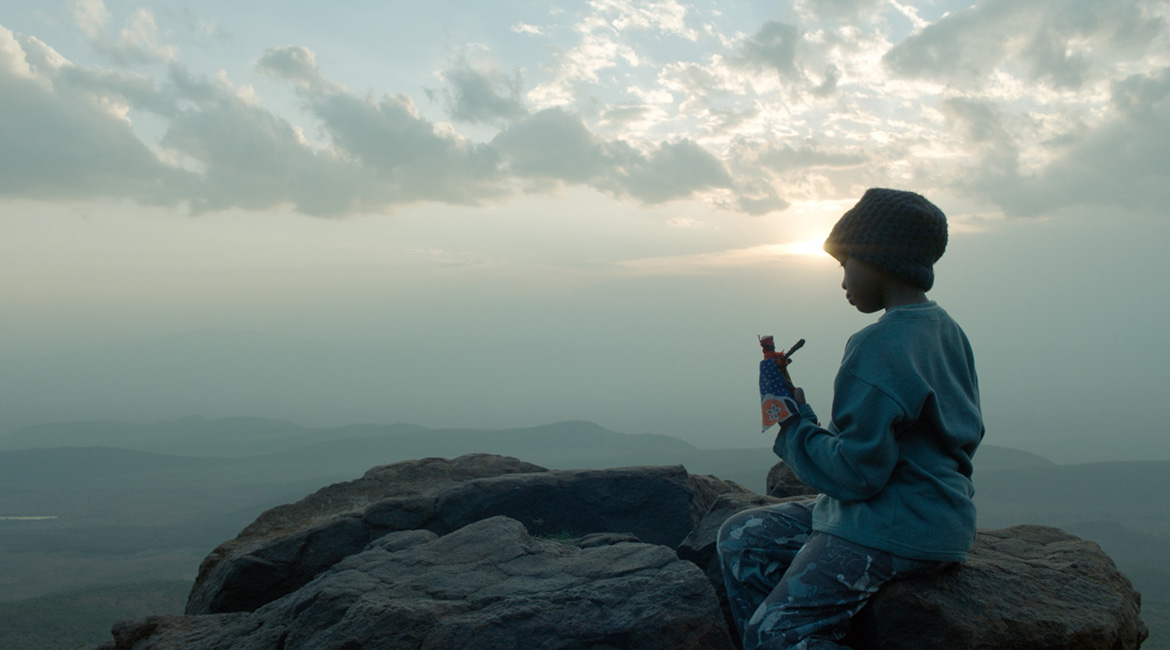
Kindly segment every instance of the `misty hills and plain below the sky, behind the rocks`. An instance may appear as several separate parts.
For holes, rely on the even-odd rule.
[[[681,464],[757,492],[770,449],[696,449],[589,422],[523,429],[308,428],[259,417],[71,422],[0,436],[6,648],[97,643],[116,617],[180,613],[202,558],[266,509],[374,465],[481,451],[550,469]],[[1166,646],[1170,462],[1058,465],[998,445],[976,464],[980,527],[1047,524],[1099,542]]]

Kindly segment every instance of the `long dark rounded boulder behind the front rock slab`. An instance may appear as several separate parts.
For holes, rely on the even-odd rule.
[[[253,611],[386,533],[447,534],[495,516],[535,535],[629,533],[673,548],[727,492],[748,493],[682,466],[550,471],[474,455],[376,468],[266,512],[216,548],[200,566],[186,613]]]

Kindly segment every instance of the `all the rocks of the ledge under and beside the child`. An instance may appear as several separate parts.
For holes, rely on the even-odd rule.
[[[187,615],[121,622],[103,648],[734,650],[714,535],[780,500],[681,466],[374,468],[266,512],[204,561]],[[883,588],[851,644],[1136,649],[1140,603],[1095,544],[980,531],[965,565]]]

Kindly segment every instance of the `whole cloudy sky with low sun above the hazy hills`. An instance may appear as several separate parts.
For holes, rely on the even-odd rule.
[[[950,242],[986,442],[1168,459],[1164,0],[0,0],[0,431],[827,415],[868,187]]]

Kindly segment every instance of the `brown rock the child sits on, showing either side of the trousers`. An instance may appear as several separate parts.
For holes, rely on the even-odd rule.
[[[679,547],[704,569],[728,627],[715,535],[731,514],[800,500],[724,495]],[[895,581],[854,621],[858,650],[1130,650],[1148,636],[1141,595],[1090,541],[1047,526],[979,531],[969,559],[936,575]]]

